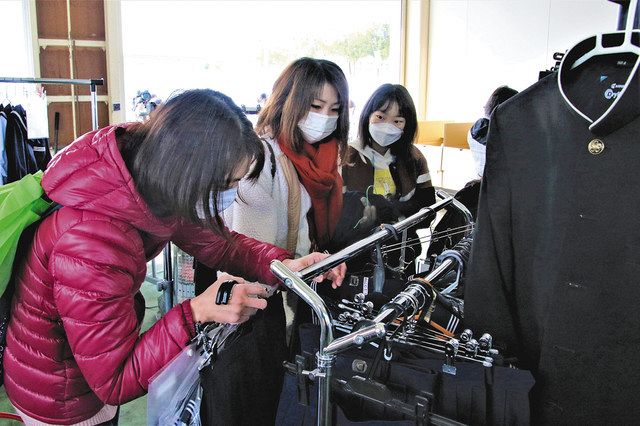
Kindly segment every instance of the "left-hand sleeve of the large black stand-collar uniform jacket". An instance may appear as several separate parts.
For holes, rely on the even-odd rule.
[[[465,319],[474,333],[489,332],[509,352],[516,341],[516,305],[511,187],[503,148],[499,117],[494,114],[464,300]]]

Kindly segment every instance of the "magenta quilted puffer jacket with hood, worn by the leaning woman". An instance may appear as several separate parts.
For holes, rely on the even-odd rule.
[[[192,337],[189,301],[139,335],[145,263],[167,241],[210,267],[269,284],[269,262],[288,257],[240,234],[229,242],[155,217],[115,134],[116,127],[88,133],[52,160],[42,185],[65,207],[41,223],[18,272],[4,385],[20,411],[46,423],[77,423],[143,395]]]

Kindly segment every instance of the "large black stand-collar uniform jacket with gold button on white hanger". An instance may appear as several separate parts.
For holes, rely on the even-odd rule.
[[[536,424],[640,416],[640,75],[570,69],[590,46],[494,111],[465,288],[467,324],[534,373]]]

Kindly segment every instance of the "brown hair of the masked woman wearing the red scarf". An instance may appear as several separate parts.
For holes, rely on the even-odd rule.
[[[340,152],[344,152],[349,136],[349,86],[342,69],[325,59],[300,58],[287,66],[260,111],[256,125],[258,134],[270,130],[279,142],[301,152],[306,142],[298,122],[306,117],[325,83],[335,88],[340,104],[336,130],[327,139],[336,138]]]

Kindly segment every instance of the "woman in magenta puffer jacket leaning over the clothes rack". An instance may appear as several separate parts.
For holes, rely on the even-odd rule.
[[[216,305],[227,275],[139,335],[146,262],[168,241],[271,285],[271,260],[299,270],[325,257],[285,260],[286,251],[224,228],[219,213],[263,158],[228,97],[191,90],[145,123],[85,134],[51,161],[42,185],[64,207],[40,224],[17,269],[4,358],[7,394],[27,424],[113,422],[117,406],[143,395],[194,336],[195,322],[243,322],[266,306],[264,286],[237,277],[229,304]],[[344,266],[329,275],[341,282]]]

